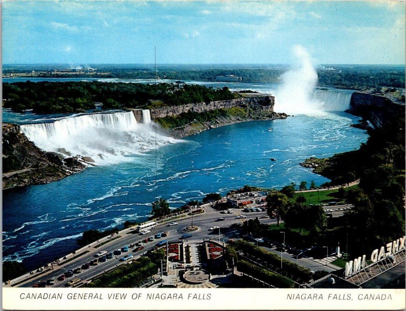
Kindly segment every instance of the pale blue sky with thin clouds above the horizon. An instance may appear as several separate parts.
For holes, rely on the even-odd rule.
[[[4,1],[3,63],[404,64],[404,2]]]

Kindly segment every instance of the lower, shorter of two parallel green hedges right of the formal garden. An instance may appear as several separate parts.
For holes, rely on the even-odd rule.
[[[254,278],[257,278],[265,283],[273,285],[278,288],[293,288],[294,282],[283,275],[270,272],[264,268],[254,265],[248,261],[240,260],[237,264],[240,272],[247,273]]]

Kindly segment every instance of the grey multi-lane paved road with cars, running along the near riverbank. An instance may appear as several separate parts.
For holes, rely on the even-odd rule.
[[[233,231],[234,229],[230,228],[232,224],[235,223],[242,223],[244,220],[236,219],[236,216],[239,214],[242,214],[241,210],[234,210],[233,214],[220,214],[219,212],[213,210],[209,206],[206,207],[206,212],[203,214],[195,215],[193,217],[193,224],[199,227],[199,230],[196,232],[191,233],[192,237],[188,239],[189,242],[191,241],[199,241],[201,242],[203,239],[218,239],[219,238],[219,231],[220,231],[220,239],[224,240],[224,238],[231,237],[233,236]],[[260,217],[262,215],[266,215],[266,212],[251,212],[247,213],[247,219],[253,219],[255,217]],[[225,220],[224,221],[217,221],[218,218],[223,217]],[[31,280],[28,280],[20,285],[19,287],[32,287],[32,285],[39,283],[40,280],[49,280],[55,277],[59,277],[59,275],[63,274],[69,269],[76,269],[78,267],[81,267],[83,264],[95,259],[94,255],[100,251],[108,251],[112,252],[114,250],[120,249],[121,247],[129,244],[134,244],[137,243],[138,241],[143,240],[144,238],[148,236],[155,235],[156,233],[162,232],[162,231],[169,231],[170,234],[168,237],[161,238],[160,240],[168,240],[170,242],[172,241],[180,241],[180,237],[185,234],[186,232],[184,231],[184,228],[187,225],[191,224],[191,218],[184,218],[184,219],[179,219],[176,220],[178,222],[178,225],[168,227],[167,224],[168,222],[164,224],[158,224],[158,226],[155,229],[151,230],[151,233],[148,233],[146,235],[139,235],[135,233],[135,230],[130,230],[126,233],[120,233],[122,236],[121,238],[114,239],[111,242],[100,246],[98,248],[93,248],[89,247],[88,250],[90,251],[87,254],[84,254],[83,256],[80,256],[79,258],[76,258],[72,260],[69,263],[66,264],[61,264],[61,266],[54,266],[54,270],[44,273],[42,275],[39,275],[37,278],[33,278]],[[275,219],[261,219],[261,223],[274,223],[276,222]],[[209,230],[213,226],[219,226],[219,229],[215,230]],[[146,243],[145,249],[141,252],[138,253],[133,253],[132,250],[135,248],[130,249],[129,252],[123,253],[120,256],[115,256],[113,259],[107,259],[106,262],[100,262],[96,266],[91,266],[89,269],[82,270],[81,273],[74,274],[74,277],[72,278],[67,278],[64,281],[57,281],[55,285],[52,287],[63,287],[65,286],[70,280],[73,278],[80,278],[81,280],[90,280],[94,278],[96,275],[103,273],[105,271],[108,271],[112,268],[115,268],[119,265],[126,264],[127,262],[121,262],[119,261],[120,258],[127,254],[132,254],[134,257],[131,259],[137,259],[139,258],[144,252],[151,250],[155,247],[156,243],[159,240],[155,240],[149,243]]]

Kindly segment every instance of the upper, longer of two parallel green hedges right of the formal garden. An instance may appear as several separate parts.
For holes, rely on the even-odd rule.
[[[281,264],[281,256],[265,251],[247,241],[238,240],[234,241],[231,245],[235,250],[240,250],[244,253],[258,257],[273,266],[278,267]],[[303,282],[308,282],[312,278],[312,272],[310,269],[303,268],[286,259],[282,259],[282,263],[283,270],[293,275],[295,278],[301,279]]]

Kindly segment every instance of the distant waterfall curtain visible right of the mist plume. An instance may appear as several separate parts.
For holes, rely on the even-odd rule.
[[[322,102],[323,111],[345,111],[350,108],[350,90],[314,90],[312,98]]]

